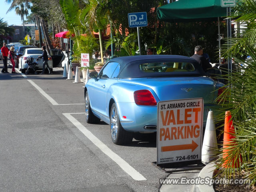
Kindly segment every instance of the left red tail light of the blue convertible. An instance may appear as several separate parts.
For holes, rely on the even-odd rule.
[[[137,105],[156,105],[156,100],[149,90],[138,90],[134,92],[134,101]]]

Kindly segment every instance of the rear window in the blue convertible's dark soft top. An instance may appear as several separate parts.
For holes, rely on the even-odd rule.
[[[191,72],[195,68],[193,64],[188,62],[156,62],[140,64],[142,72],[165,73],[165,72]]]

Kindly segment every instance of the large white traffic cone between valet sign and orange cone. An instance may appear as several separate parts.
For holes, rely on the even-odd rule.
[[[204,132],[204,142],[202,146],[202,162],[208,164],[210,161],[214,160],[213,149],[218,148],[217,138],[215,132],[215,124],[213,119],[213,112],[208,112],[208,117],[206,121],[206,128]]]

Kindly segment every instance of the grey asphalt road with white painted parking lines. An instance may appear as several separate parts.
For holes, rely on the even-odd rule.
[[[86,123],[84,83],[61,72],[0,73],[0,191],[158,191],[156,141],[113,144],[109,125]]]

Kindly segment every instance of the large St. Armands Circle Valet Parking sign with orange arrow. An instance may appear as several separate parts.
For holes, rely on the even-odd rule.
[[[203,111],[203,98],[158,102],[158,165],[201,162]]]

